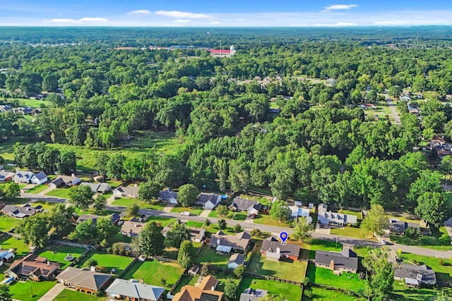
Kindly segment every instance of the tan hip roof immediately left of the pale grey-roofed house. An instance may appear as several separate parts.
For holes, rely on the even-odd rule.
[[[111,277],[109,274],[90,271],[90,269],[78,269],[69,266],[57,276],[57,279],[81,288],[99,290]]]

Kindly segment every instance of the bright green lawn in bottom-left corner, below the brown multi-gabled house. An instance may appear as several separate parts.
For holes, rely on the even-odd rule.
[[[9,291],[13,296],[13,299],[35,301],[53,288],[55,284],[57,284],[57,281],[14,281],[9,285]],[[33,294],[31,292],[33,292]],[[34,297],[32,297],[32,295],[34,295]]]

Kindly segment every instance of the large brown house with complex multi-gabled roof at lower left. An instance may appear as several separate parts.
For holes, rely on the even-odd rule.
[[[59,269],[59,264],[50,262],[49,259],[38,257],[30,253],[23,259],[15,260],[5,271],[6,276],[12,278],[28,278],[32,281],[50,280],[54,278]]]

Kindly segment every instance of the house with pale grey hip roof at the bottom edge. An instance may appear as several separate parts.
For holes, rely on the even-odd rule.
[[[165,288],[160,286],[140,283],[138,281],[127,281],[115,279],[105,290],[108,296],[117,299],[135,301],[160,301],[164,297]]]

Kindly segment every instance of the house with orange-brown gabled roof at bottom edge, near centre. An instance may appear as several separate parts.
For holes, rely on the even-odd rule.
[[[198,286],[184,285],[182,290],[174,295],[172,301],[221,301],[223,294],[215,288],[218,280],[213,276],[205,276]]]

